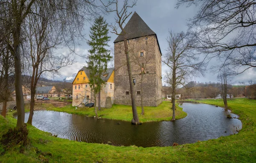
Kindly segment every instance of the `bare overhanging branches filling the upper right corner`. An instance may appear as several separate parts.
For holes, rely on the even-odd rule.
[[[183,4],[198,6],[189,31],[206,58],[223,59],[218,70],[232,65],[243,73],[256,67],[255,0],[178,0],[176,8]]]

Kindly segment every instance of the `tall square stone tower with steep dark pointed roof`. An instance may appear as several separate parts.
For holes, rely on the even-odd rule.
[[[144,70],[142,90],[144,106],[158,106],[162,102],[161,50],[157,34],[134,12],[125,25],[132,77],[135,83],[136,104],[141,103],[141,69]],[[123,36],[114,41],[115,74],[114,104],[131,105],[129,77],[126,65]],[[144,68],[143,68],[144,67]]]

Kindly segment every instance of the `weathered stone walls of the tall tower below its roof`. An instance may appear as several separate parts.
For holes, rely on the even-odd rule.
[[[140,65],[145,66],[143,75],[142,90],[144,106],[157,106],[162,102],[161,97],[161,55],[155,35],[130,39],[128,43],[129,55],[131,58],[132,77],[136,80],[134,85],[136,91],[136,104],[141,105],[141,71]],[[144,55],[140,57],[140,52]],[[130,84],[124,51],[124,42],[115,43],[115,92],[114,104],[131,105]],[[129,92],[126,93],[126,92]]]

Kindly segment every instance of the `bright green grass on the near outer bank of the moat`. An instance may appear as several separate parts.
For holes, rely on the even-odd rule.
[[[223,106],[221,100],[197,101]],[[42,152],[51,152],[51,163],[179,163],[179,162],[216,162],[216,163],[255,163],[256,162],[256,100],[235,99],[228,104],[233,113],[240,115],[243,128],[236,135],[169,147],[142,148],[136,146],[118,147],[105,144],[85,143],[55,138],[49,133],[28,126],[32,145]],[[129,118],[130,119],[130,118]],[[0,135],[9,127],[14,127],[16,120],[9,114],[6,119],[0,116]],[[39,143],[39,138],[48,140]],[[3,147],[0,146],[0,151]],[[24,154],[16,150],[0,156],[0,163],[39,162],[38,154],[26,149]]]

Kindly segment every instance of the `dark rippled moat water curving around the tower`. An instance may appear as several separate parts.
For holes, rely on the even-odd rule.
[[[183,103],[185,118],[176,121],[148,122],[132,125],[130,122],[109,119],[96,120],[84,115],[55,111],[35,111],[32,125],[58,138],[87,143],[108,143],[114,146],[172,146],[195,143],[238,133],[242,123],[227,118],[221,107],[208,104]],[[146,112],[146,111],[145,111]],[[231,114],[232,117],[237,117]],[[29,113],[25,115],[25,122]],[[120,123],[120,124],[118,124]]]

